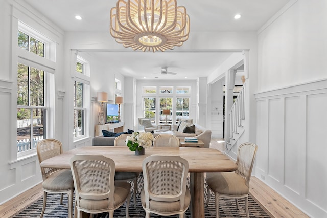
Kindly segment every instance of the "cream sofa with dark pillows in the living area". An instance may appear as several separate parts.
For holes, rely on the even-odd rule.
[[[156,137],[159,134],[172,134],[178,138],[184,138],[185,136],[189,137],[196,137],[200,140],[203,141],[204,147],[209,148],[210,146],[210,140],[211,140],[211,130],[206,129],[198,124],[195,125],[195,133],[183,133],[177,131],[178,125],[173,124],[172,125],[172,130],[167,131],[167,130],[155,130],[153,136]]]

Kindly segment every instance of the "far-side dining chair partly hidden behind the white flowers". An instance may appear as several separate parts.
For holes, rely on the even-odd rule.
[[[127,146],[125,141],[127,136],[131,136],[132,134],[122,134],[114,139],[114,146]],[[139,172],[116,172],[114,175],[114,180],[118,181],[132,181],[134,183],[134,207],[136,207],[136,193],[138,193],[137,187],[137,178],[139,177]]]

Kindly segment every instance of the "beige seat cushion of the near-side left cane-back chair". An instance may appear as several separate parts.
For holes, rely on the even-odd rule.
[[[120,205],[124,202],[130,193],[131,185],[128,182],[115,181],[114,182],[114,206]],[[90,199],[80,199],[77,204],[79,207],[87,210],[103,210],[109,208],[108,199],[103,200],[90,200]]]

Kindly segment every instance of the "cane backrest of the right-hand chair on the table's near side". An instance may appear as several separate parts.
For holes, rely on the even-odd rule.
[[[188,161],[179,156],[151,155],[144,159],[142,170],[147,208],[150,208],[152,199],[163,202],[180,201],[180,210],[183,209]]]

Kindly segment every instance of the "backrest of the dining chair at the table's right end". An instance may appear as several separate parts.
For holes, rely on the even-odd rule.
[[[253,143],[243,143],[239,146],[236,164],[238,169],[235,171],[246,180],[246,184],[249,185],[256,150],[258,146]]]

